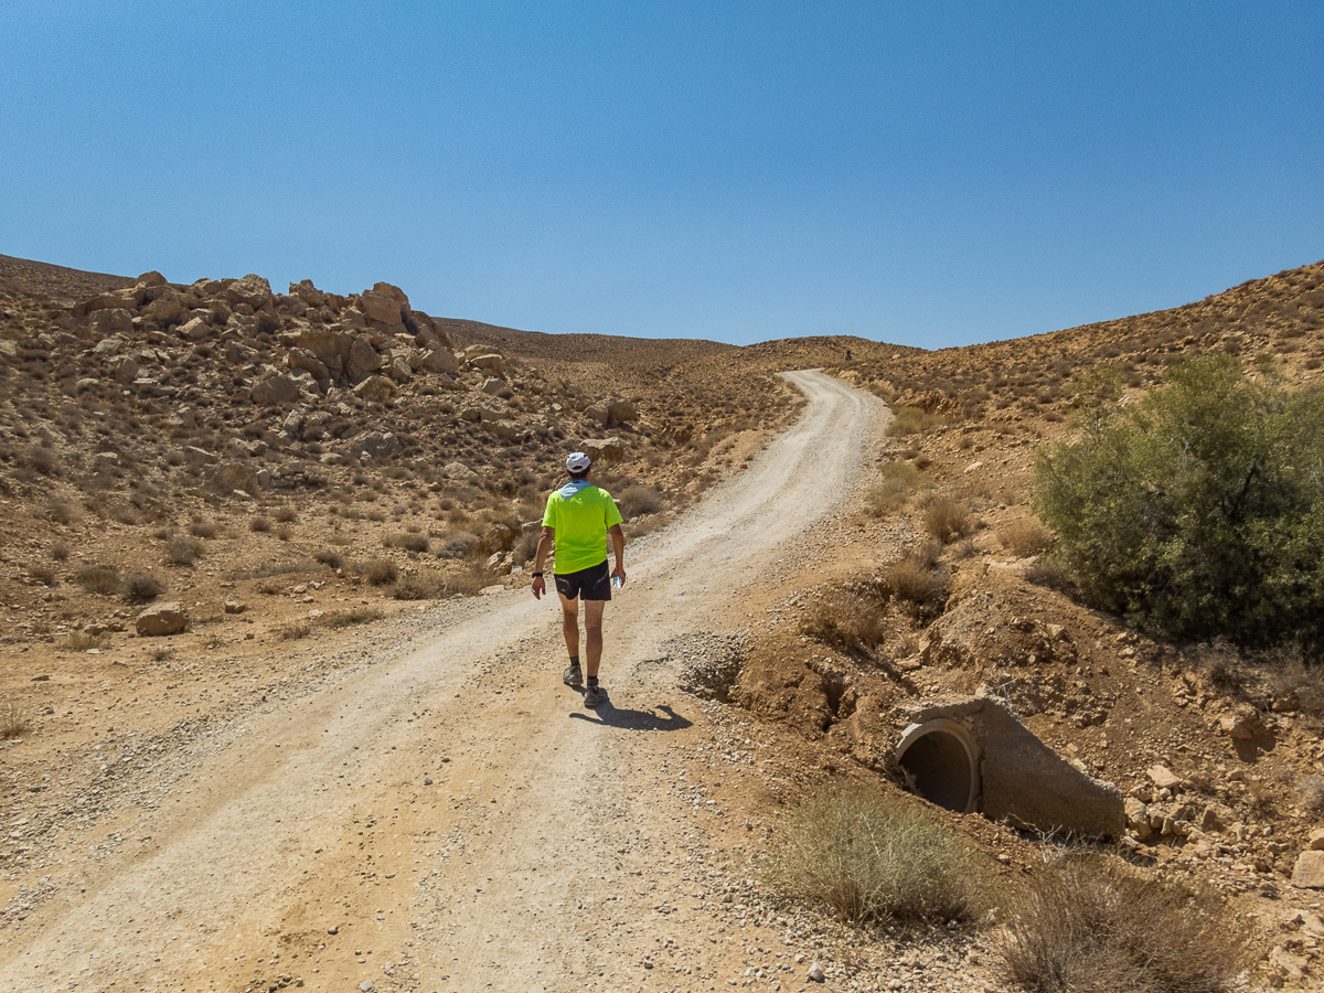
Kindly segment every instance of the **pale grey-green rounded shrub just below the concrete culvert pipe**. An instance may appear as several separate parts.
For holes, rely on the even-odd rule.
[[[781,891],[842,920],[948,922],[974,914],[969,859],[911,802],[855,786],[792,809],[765,869]]]

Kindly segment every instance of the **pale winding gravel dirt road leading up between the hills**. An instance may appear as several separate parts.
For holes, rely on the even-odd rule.
[[[560,683],[553,602],[441,608],[110,825],[122,843],[87,853],[82,891],[9,936],[0,988],[724,988],[757,924],[714,924],[744,906],[722,903],[710,841],[757,812],[687,781],[686,755],[720,744],[756,775],[759,743],[678,691],[685,655],[719,653],[779,560],[802,564],[797,536],[858,483],[884,416],[822,373],[790,380],[801,421],[628,552],[608,704]]]

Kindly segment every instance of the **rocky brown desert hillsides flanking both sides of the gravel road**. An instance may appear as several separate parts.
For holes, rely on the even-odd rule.
[[[1319,891],[1292,879],[1324,817],[1317,665],[1141,637],[1045,579],[1053,538],[1029,508],[1035,446],[1070,430],[1072,376],[1119,363],[1135,400],[1213,350],[1317,388],[1324,262],[924,351],[544,335],[432,316],[388,283],[277,293],[258,275],[179,285],[0,256],[0,740],[17,743],[0,816],[21,822],[0,903],[41,899],[62,824],[132,804],[107,749],[176,749],[326,671],[346,632],[520,584],[569,448],[596,453],[642,535],[794,420],[779,371],[822,367],[898,413],[880,469],[908,482],[855,500],[825,539],[834,553],[769,584],[768,626],[695,692],[793,732],[808,751],[788,782],[804,792],[899,789],[891,749],[914,707],[1005,698],[1127,794],[1133,865],[1256,915],[1256,982],[1309,988]],[[925,592],[879,606],[903,560]],[[177,633],[150,636],[142,617],[163,602],[151,624]],[[135,706],[147,687],[151,708]],[[1042,861],[1033,835],[948,824],[1006,873]]]

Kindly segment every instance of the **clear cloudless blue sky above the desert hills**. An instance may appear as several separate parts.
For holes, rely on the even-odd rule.
[[[7,0],[0,253],[939,348],[1324,258],[1324,4]]]

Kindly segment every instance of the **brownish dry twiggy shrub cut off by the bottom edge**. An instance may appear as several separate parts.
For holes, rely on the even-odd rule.
[[[1045,869],[1004,910],[1002,969],[1035,993],[1215,993],[1247,963],[1249,936],[1210,894],[1099,857]]]

